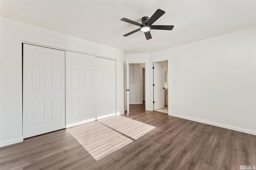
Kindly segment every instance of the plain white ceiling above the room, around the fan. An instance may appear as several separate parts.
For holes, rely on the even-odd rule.
[[[121,18],[141,23],[157,9],[166,13],[146,40]],[[256,26],[256,0],[0,0],[0,16],[124,50],[152,53]],[[141,50],[143,49],[143,52]]]

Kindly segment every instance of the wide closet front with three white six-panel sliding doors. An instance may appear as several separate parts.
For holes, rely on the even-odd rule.
[[[23,45],[23,137],[116,115],[116,61]]]

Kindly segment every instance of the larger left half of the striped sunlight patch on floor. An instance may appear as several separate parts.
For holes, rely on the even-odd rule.
[[[98,122],[86,123],[81,127],[68,128],[68,131],[95,160],[100,160],[132,142],[131,139]]]

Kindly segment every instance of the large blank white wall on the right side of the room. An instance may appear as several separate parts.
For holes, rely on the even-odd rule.
[[[256,27],[152,53],[150,65],[166,58],[169,115],[256,135]]]

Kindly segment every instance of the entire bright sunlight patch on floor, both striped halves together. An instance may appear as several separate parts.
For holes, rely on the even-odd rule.
[[[111,116],[70,127],[67,130],[95,160],[100,160],[132,143],[132,139],[136,140],[154,128],[154,126],[127,117]]]

